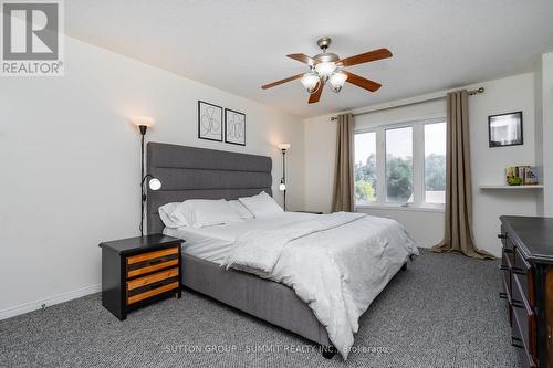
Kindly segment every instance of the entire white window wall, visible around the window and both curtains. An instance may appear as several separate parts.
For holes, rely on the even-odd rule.
[[[474,238],[478,246],[500,254],[495,234],[500,214],[535,215],[536,193],[483,192],[480,185],[503,183],[504,168],[512,164],[535,164],[534,76],[532,73],[478,83],[467,88],[486,87],[486,93],[470,97],[469,120],[474,203]],[[374,112],[356,117],[362,125],[397,123],[413,118],[445,115],[445,101]],[[361,108],[359,111],[363,111]],[[488,116],[523,111],[524,145],[488,147]],[[304,122],[305,208],[330,211],[334,175],[336,124],[325,115]],[[394,218],[404,223],[420,246],[430,246],[442,238],[444,213],[415,209],[361,209]]]

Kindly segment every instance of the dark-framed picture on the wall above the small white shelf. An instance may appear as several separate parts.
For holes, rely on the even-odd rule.
[[[523,145],[522,112],[488,116],[490,147]]]

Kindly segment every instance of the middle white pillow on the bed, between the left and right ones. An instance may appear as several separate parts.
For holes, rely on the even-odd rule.
[[[237,211],[225,199],[191,199],[182,203],[192,212],[191,225],[204,228],[216,224],[226,224],[242,221]]]

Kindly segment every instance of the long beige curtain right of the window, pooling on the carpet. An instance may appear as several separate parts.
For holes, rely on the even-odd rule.
[[[493,256],[476,246],[472,234],[468,98],[466,90],[447,95],[446,231],[432,250],[487,259]]]

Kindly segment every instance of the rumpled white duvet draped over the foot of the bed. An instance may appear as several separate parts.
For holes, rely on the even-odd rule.
[[[413,254],[398,222],[337,212],[242,233],[225,264],[292,287],[346,359],[358,318]]]

